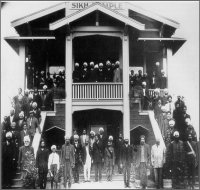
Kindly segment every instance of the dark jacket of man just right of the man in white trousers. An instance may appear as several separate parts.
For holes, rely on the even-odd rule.
[[[94,163],[102,162],[103,158],[103,145],[102,142],[99,143],[95,142],[93,144],[93,161]]]

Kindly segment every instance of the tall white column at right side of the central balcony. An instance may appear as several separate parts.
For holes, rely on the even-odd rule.
[[[124,138],[130,141],[130,107],[129,107],[129,38],[123,36],[122,39],[123,53],[123,131]]]

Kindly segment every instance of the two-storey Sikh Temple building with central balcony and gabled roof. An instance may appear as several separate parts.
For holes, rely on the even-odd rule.
[[[49,144],[62,144],[64,133],[71,135],[73,129],[81,133],[100,126],[114,138],[122,132],[131,143],[141,133],[150,144],[160,135],[140,100],[130,98],[129,70],[152,74],[163,69],[168,77],[171,58],[186,41],[172,37],[179,23],[130,2],[62,2],[17,18],[11,26],[19,35],[4,39],[19,56],[23,89],[34,86],[36,70],[53,74],[65,68],[66,98],[55,99],[54,110],[45,116]],[[75,62],[107,60],[119,60],[121,82],[73,83]]]

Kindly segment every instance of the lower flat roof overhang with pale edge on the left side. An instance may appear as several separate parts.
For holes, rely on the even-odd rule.
[[[19,45],[21,42],[33,40],[55,40],[54,36],[10,36],[5,37],[4,40],[19,54]]]

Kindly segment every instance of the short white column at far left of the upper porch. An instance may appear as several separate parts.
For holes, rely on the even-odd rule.
[[[26,63],[26,57],[25,57],[25,44],[20,43],[19,45],[19,67],[20,67],[20,84],[22,87],[22,91],[26,89],[26,73],[25,73],[25,63]]]

